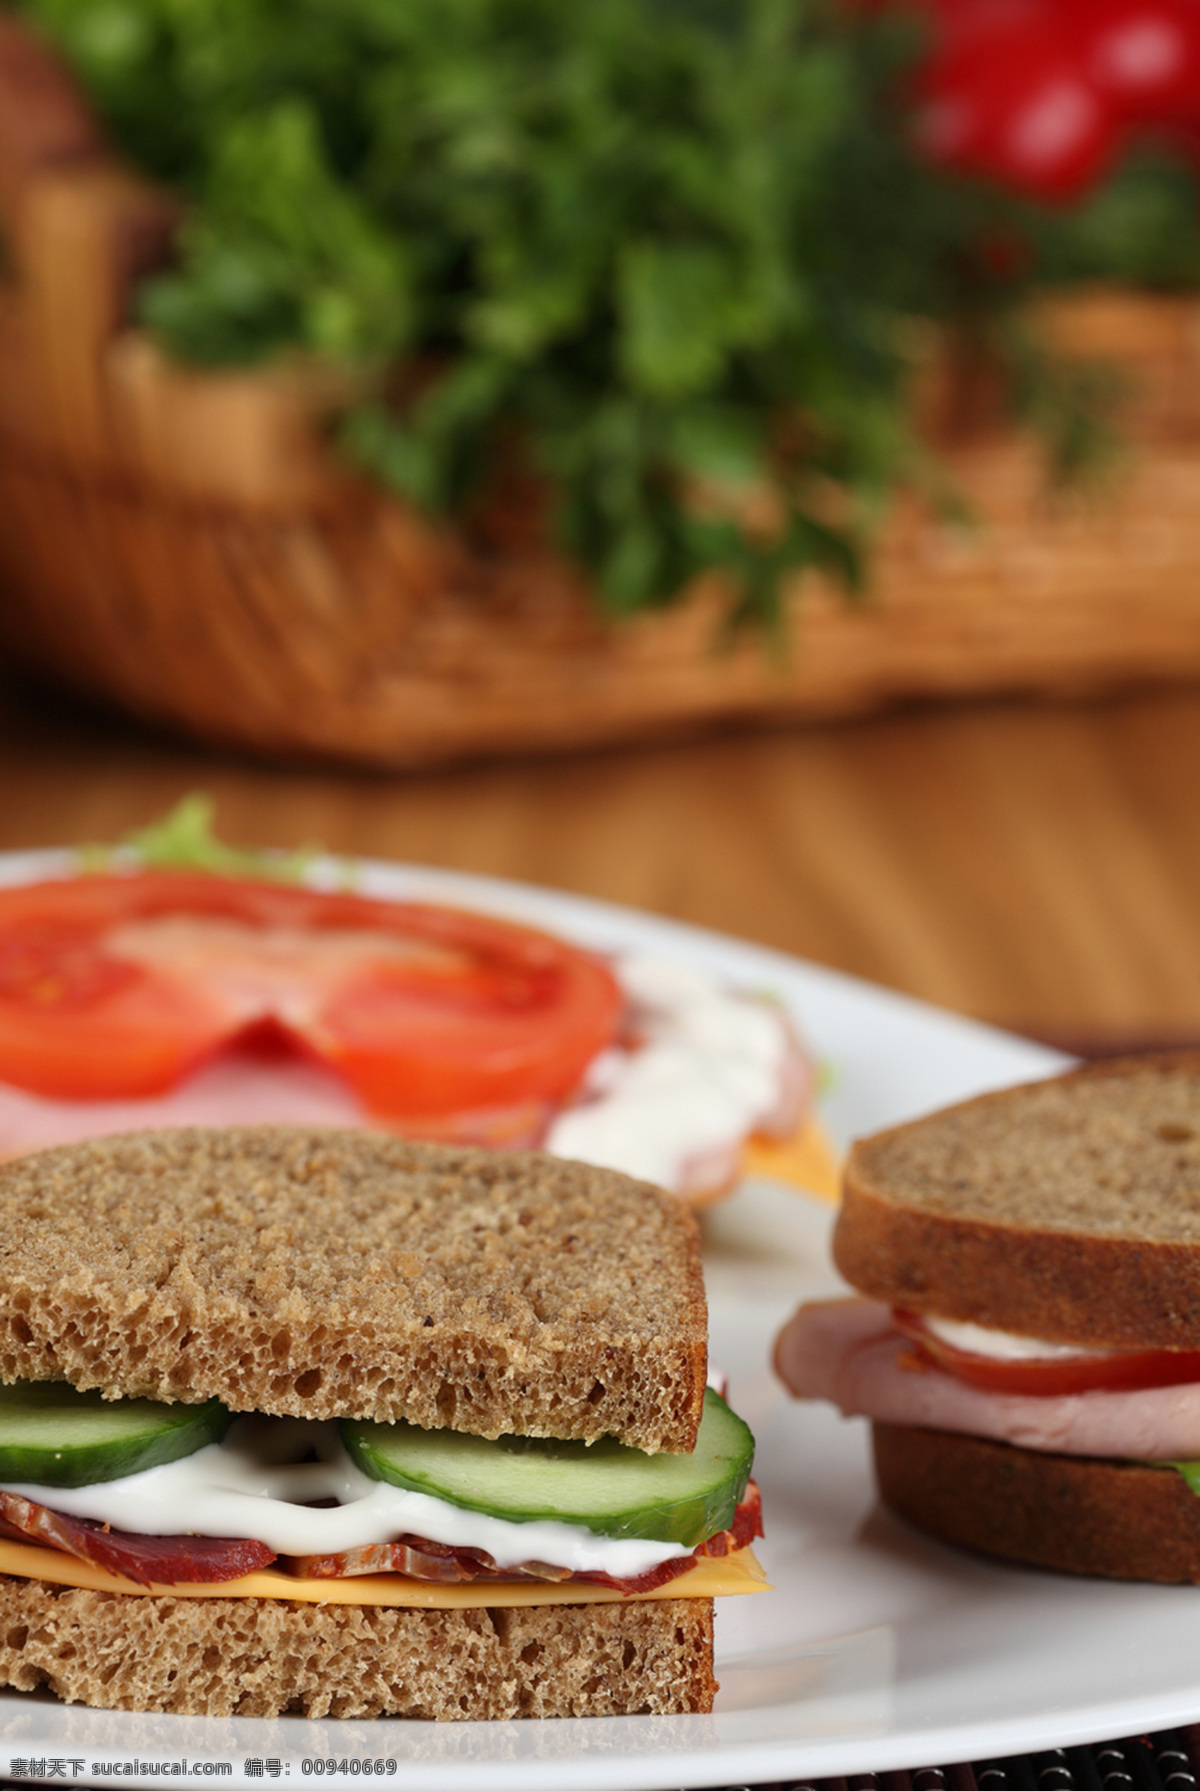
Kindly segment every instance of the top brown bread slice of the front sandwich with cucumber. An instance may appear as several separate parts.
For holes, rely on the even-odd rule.
[[[0,1164],[0,1379],[478,1436],[695,1445],[695,1220],[537,1153],[290,1127]]]

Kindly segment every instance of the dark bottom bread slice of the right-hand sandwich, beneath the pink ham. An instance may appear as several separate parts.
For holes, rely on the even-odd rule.
[[[1173,1467],[872,1424],[879,1494],[942,1542],[1109,1580],[1200,1583],[1200,1499]]]

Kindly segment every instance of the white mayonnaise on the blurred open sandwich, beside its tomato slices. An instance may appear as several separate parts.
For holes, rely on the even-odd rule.
[[[636,1050],[604,1051],[582,1096],[550,1125],[544,1148],[661,1187],[736,1171],[743,1137],[781,1103],[793,1051],[770,1001],[722,989],[702,971],[639,953],[614,958],[632,1005]]]

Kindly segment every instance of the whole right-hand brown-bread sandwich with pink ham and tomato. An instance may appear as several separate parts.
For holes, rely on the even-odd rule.
[[[883,1501],[946,1542],[1200,1581],[1200,1053],[985,1094],[851,1152],[776,1367],[867,1417]]]

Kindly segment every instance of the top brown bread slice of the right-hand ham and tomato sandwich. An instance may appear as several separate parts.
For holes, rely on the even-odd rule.
[[[1093,1064],[860,1141],[833,1254],[910,1311],[1200,1349],[1200,1051]]]

